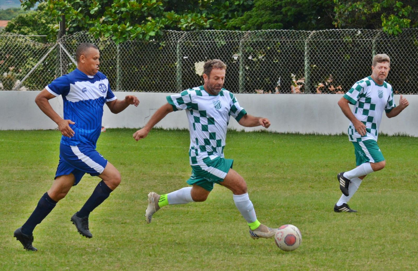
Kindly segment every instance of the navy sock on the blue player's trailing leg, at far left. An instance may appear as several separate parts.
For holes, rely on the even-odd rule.
[[[31,216],[26,220],[25,224],[22,226],[22,233],[27,235],[32,235],[33,229],[42,222],[46,216],[51,213],[54,209],[56,201],[51,199],[48,195],[48,192],[45,192],[41,199],[38,201],[38,205]]]

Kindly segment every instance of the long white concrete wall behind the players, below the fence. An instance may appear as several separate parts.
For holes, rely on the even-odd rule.
[[[56,124],[38,109],[34,100],[39,91],[0,91],[0,130],[8,129],[55,129]],[[125,95],[136,95],[138,107],[129,106],[120,114],[110,113],[104,106],[103,125],[107,128],[143,127],[150,116],[166,103],[166,93],[115,92],[119,99]],[[240,105],[252,115],[267,117],[272,123],[270,131],[318,134],[340,134],[347,132],[348,119],[342,114],[337,101],[342,95],[304,94],[235,94]],[[398,117],[383,117],[380,132],[386,134],[408,134],[418,137],[418,95],[405,95],[410,106]],[[395,95],[398,104],[399,95]],[[50,100],[52,107],[62,116],[62,99]],[[182,111],[167,115],[157,127],[188,128],[186,113]],[[243,129],[235,120],[230,128]],[[245,131],[262,129],[245,128]]]

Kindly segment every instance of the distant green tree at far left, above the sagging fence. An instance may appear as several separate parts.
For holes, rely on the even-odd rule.
[[[39,37],[37,40],[51,42],[56,40],[58,24],[49,15],[47,4],[40,3],[37,10],[20,14],[10,20],[5,31],[21,35],[46,35],[46,38]]]

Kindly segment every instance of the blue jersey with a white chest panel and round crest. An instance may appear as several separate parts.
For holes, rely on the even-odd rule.
[[[101,72],[89,76],[76,68],[71,73],[55,79],[45,88],[55,96],[62,95],[64,119],[75,122],[70,124],[75,132],[74,136],[62,136],[61,144],[93,144],[96,147],[102,128],[103,105],[117,99],[106,76]]]

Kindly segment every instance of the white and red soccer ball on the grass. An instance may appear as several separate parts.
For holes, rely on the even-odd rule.
[[[294,251],[302,243],[302,234],[294,225],[283,225],[274,235],[274,241],[281,250]]]

